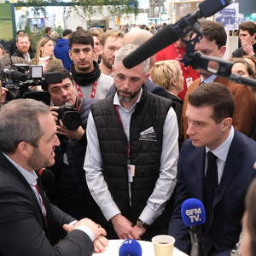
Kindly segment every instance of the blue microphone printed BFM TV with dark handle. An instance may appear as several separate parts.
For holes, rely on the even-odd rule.
[[[206,222],[206,211],[202,202],[196,198],[183,201],[181,207],[183,223],[189,226],[191,239],[190,256],[203,256],[202,224]]]

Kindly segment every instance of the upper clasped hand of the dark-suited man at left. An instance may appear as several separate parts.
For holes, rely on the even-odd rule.
[[[90,218],[82,218],[76,224],[73,225],[64,224],[63,229],[66,230],[67,233],[69,233],[78,226],[84,226],[89,228],[93,232],[95,239],[97,239],[99,236],[107,236],[106,230],[104,230],[99,224],[96,224]]]

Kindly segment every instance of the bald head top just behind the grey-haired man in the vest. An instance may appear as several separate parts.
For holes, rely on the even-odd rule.
[[[152,38],[153,35],[145,29],[141,29],[139,27],[134,27],[130,32],[125,34],[124,45],[125,44],[136,44],[142,45],[149,38]]]

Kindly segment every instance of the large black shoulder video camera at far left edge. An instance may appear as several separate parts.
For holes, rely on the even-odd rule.
[[[42,90],[32,90],[35,86],[47,86],[62,82],[61,73],[43,73],[42,66],[13,64],[12,67],[0,69],[2,84],[8,91],[7,101],[18,98],[33,98],[49,105],[49,93]]]

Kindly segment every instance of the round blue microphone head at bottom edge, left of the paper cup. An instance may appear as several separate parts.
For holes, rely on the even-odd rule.
[[[119,256],[142,256],[141,245],[135,239],[126,239],[119,248]]]

